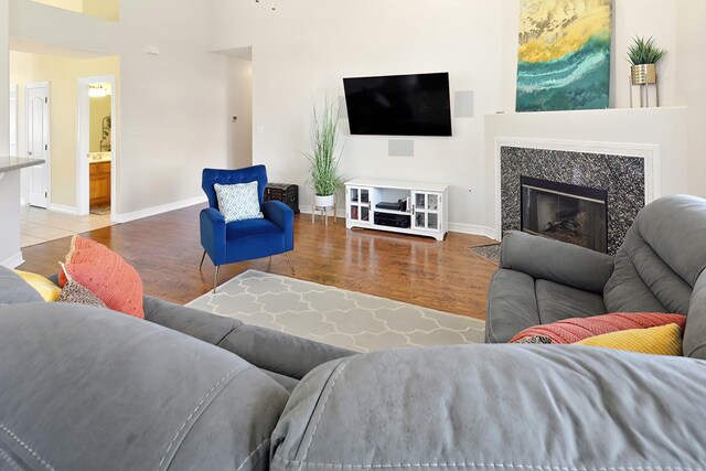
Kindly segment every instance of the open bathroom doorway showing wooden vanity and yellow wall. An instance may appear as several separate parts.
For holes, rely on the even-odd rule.
[[[78,79],[76,210],[78,215],[116,213],[115,76]]]

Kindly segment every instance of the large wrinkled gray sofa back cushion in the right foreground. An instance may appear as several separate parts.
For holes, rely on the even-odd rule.
[[[271,469],[703,469],[704,384],[691,358],[576,345],[361,354],[300,382]]]

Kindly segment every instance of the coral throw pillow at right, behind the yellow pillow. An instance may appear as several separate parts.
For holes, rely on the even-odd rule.
[[[512,338],[510,343],[516,343],[525,338],[536,335],[548,338],[552,340],[552,343],[576,343],[584,339],[605,333],[628,329],[649,329],[672,323],[677,324],[680,329],[684,331],[686,315],[665,314],[662,312],[616,312],[612,314],[593,315],[592,318],[565,319],[552,324],[535,325],[520,332]]]

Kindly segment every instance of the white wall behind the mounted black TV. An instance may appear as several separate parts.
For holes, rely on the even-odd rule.
[[[237,4],[236,4],[237,3]],[[304,186],[312,105],[342,95],[342,78],[446,71],[451,90],[474,90],[475,118],[453,119],[452,138],[414,138],[414,158],[387,157],[388,139],[347,136],[346,178],[451,184],[450,221],[479,221],[475,193],[484,175],[482,115],[500,106],[500,2],[447,0],[212,0],[211,47],[253,46],[254,161],[271,181]],[[342,121],[347,131],[347,122]],[[258,132],[258,127],[264,132]]]

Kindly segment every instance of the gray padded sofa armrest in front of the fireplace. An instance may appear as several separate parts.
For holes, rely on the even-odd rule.
[[[602,293],[613,272],[613,257],[577,245],[509,231],[503,236],[500,267]]]

